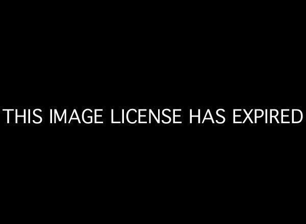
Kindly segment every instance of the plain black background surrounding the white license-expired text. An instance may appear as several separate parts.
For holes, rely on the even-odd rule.
[[[7,211],[157,220],[299,212],[304,121],[233,125],[231,115],[304,112],[296,9],[49,7],[4,15],[1,108],[183,108],[184,124],[2,123]],[[188,125],[189,108],[224,108],[226,124]]]

